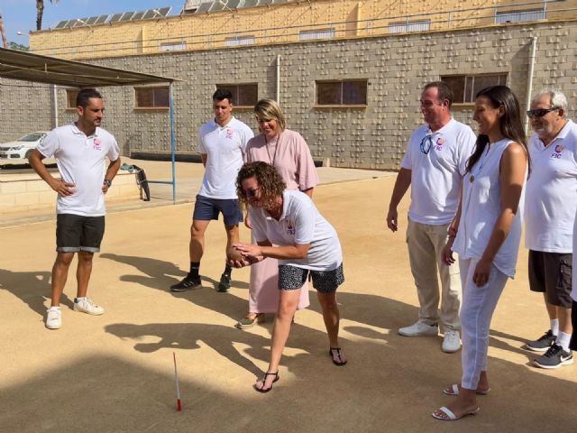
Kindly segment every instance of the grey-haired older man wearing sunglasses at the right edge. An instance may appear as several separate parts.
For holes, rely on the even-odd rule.
[[[577,124],[567,119],[567,98],[556,89],[541,90],[527,115],[535,134],[529,140],[531,176],[527,180],[525,242],[529,249],[529,287],[542,292],[550,328],[526,348],[545,352],[537,367],[573,363],[572,237],[577,211]]]

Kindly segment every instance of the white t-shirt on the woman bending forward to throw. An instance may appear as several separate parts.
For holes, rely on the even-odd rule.
[[[285,189],[282,215],[277,221],[260,208],[251,207],[252,235],[257,242],[287,246],[310,244],[307,257],[302,260],[279,260],[313,271],[334,271],[343,263],[341,243],[333,226],[318,212],[307,194]]]

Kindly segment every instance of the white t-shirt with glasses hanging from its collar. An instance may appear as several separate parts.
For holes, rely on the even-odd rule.
[[[475,142],[471,127],[453,118],[435,133],[426,124],[415,130],[401,162],[403,169],[411,170],[411,220],[432,226],[453,220]]]

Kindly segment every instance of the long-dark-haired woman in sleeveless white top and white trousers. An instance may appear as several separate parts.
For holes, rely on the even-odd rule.
[[[490,391],[490,319],[505,283],[515,275],[521,238],[529,159],[517,97],[505,86],[484,88],[477,94],[473,118],[479,124],[479,136],[467,161],[461,207],[449,228],[443,257],[451,264],[452,251],[459,254],[463,377],[460,385],[443,390],[456,399],[435,410],[436,419],[476,413],[477,395]]]

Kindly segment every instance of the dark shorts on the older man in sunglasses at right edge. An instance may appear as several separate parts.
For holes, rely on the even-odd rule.
[[[546,293],[547,303],[571,309],[572,253],[529,250],[529,288]]]

